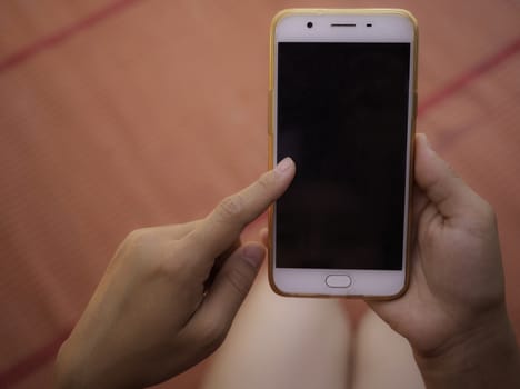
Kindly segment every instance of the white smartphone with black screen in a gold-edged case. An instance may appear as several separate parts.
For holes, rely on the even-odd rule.
[[[284,296],[396,298],[408,286],[417,22],[398,9],[293,9],[271,26],[269,162],[293,182],[269,212]]]

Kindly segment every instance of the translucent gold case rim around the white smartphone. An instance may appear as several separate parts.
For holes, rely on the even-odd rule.
[[[396,298],[401,297],[408,289],[410,283],[410,237],[411,237],[411,219],[412,219],[412,188],[413,188],[413,161],[414,161],[414,153],[416,153],[416,117],[417,117],[417,73],[418,73],[418,41],[419,41],[419,33],[418,33],[418,24],[417,20],[413,14],[403,9],[380,9],[380,8],[364,8],[364,9],[320,9],[320,8],[293,8],[293,9],[286,9],[278,12],[271,21],[271,29],[270,29],[270,37],[269,37],[269,91],[268,91],[268,136],[269,136],[269,144],[268,144],[268,166],[269,169],[273,168],[273,116],[272,116],[272,104],[273,104],[273,89],[274,89],[274,31],[277,28],[278,22],[287,17],[292,14],[400,14],[404,16],[411,20],[413,23],[413,101],[412,101],[412,112],[411,112],[411,143],[410,143],[410,167],[409,167],[409,193],[408,193],[408,221],[407,221],[407,258],[406,258],[406,280],[403,288],[393,296],[363,296],[363,295],[347,295],[347,296],[326,296],[326,295],[314,295],[314,293],[287,293],[277,288],[274,280],[273,280],[273,271],[274,271],[274,263],[273,263],[273,256],[272,256],[272,240],[274,237],[272,236],[273,231],[273,206],[269,208],[268,211],[268,223],[269,223],[269,240],[268,240],[268,273],[269,273],[269,283],[271,289],[277,292],[278,295],[286,296],[286,297],[320,297],[320,298],[363,298],[366,300],[392,300]]]

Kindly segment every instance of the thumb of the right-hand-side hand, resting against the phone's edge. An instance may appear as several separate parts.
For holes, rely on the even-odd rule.
[[[444,218],[468,215],[481,199],[430,147],[426,134],[416,137],[416,182]]]

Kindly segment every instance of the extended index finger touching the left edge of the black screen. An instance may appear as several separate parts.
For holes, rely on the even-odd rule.
[[[249,222],[283,194],[294,177],[294,162],[286,158],[249,187],[224,198],[186,236],[186,245],[190,250],[210,259],[218,257],[238,239]]]

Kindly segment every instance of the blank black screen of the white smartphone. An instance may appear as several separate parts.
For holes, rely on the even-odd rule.
[[[279,42],[279,268],[401,270],[410,43]]]

